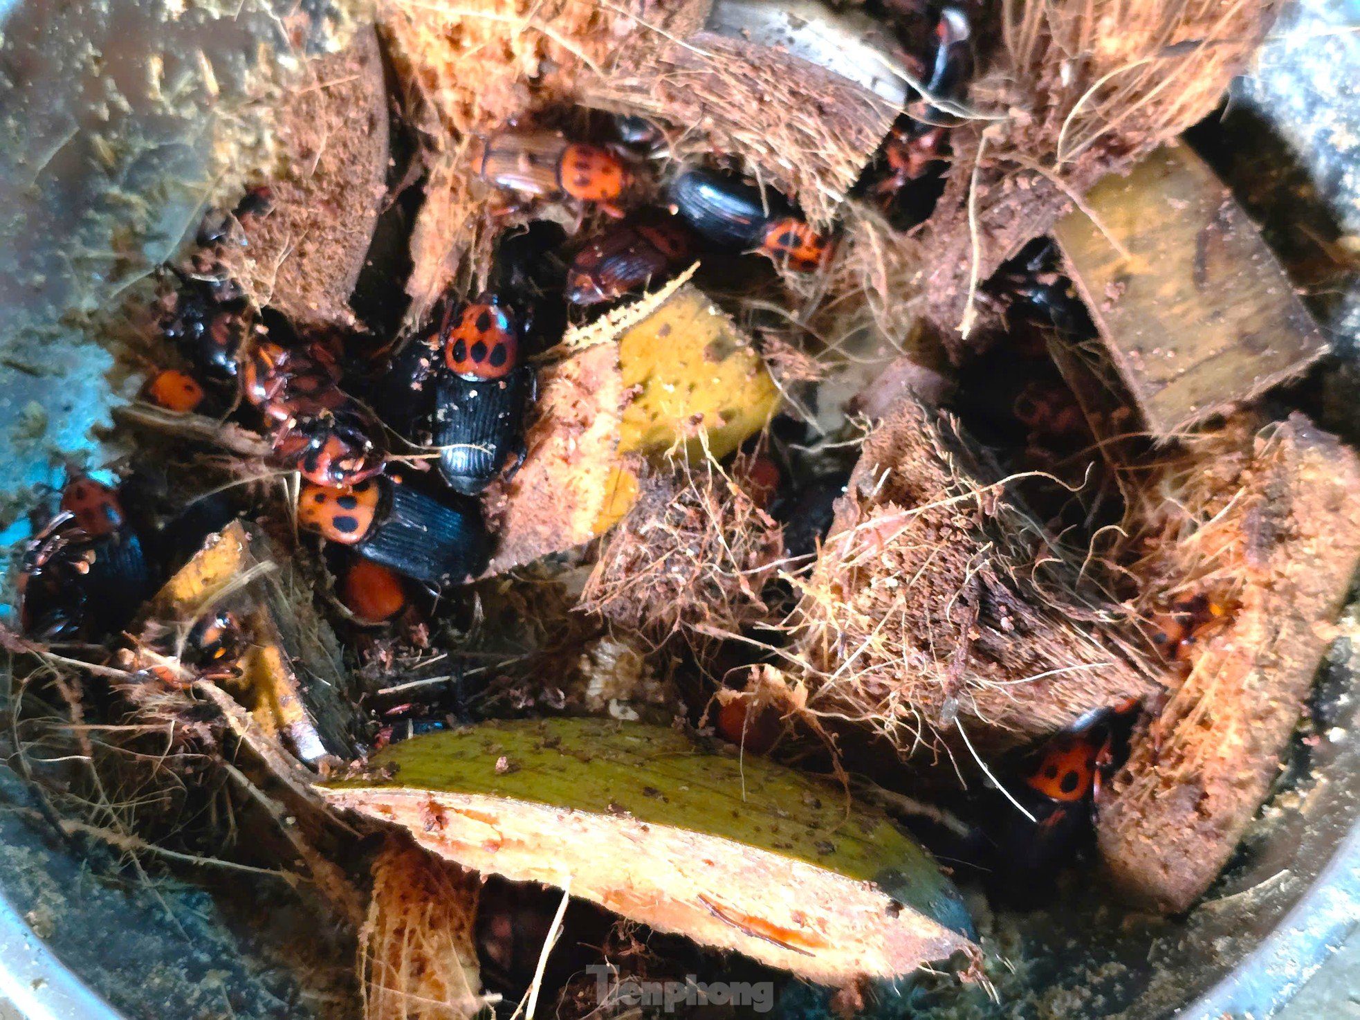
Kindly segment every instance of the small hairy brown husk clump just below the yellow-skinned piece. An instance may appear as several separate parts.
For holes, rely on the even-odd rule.
[[[768,616],[760,592],[782,555],[779,525],[719,468],[651,477],[609,536],[579,608],[657,638],[736,634]]]

